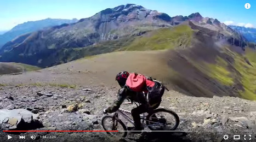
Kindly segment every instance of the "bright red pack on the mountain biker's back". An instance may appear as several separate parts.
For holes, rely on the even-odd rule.
[[[151,81],[147,79],[146,76],[137,73],[131,73],[126,80],[126,86],[135,92],[147,91],[146,87],[153,87],[154,85],[154,81]]]

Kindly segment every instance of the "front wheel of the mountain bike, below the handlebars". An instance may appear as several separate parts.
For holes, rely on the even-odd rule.
[[[119,132],[107,132],[107,134],[117,136],[117,137],[126,137],[127,128],[126,125],[121,120],[113,119],[113,116],[106,115],[101,120],[101,125],[105,131],[119,131]]]

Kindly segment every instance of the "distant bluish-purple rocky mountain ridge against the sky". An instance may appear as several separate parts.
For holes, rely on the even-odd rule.
[[[186,20],[218,31],[227,37],[229,43],[244,47],[243,37],[217,19],[203,18],[199,13],[185,17],[170,17],[141,5],[127,4],[105,9],[77,23],[54,26],[22,35],[3,46],[0,50],[0,56],[2,56],[0,61],[22,62],[45,67],[44,64],[47,63],[45,59],[48,56],[58,57],[60,56],[58,52],[64,49],[82,48],[121,38],[129,40],[148,31],[173,27]],[[47,64],[47,66],[53,66],[53,64]]]

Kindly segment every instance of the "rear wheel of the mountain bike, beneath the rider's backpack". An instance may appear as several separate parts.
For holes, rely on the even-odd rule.
[[[147,127],[152,131],[174,131],[179,123],[179,116],[172,110],[156,109],[146,117]]]

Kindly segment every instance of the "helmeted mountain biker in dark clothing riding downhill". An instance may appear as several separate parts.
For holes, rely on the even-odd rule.
[[[135,92],[130,90],[129,87],[126,85],[128,76],[129,73],[126,71],[120,72],[116,75],[116,81],[121,86],[120,90],[118,90],[118,99],[113,103],[112,106],[104,109],[104,114],[117,111],[123,103],[124,99],[128,99],[131,102],[140,103],[139,106],[132,109],[131,111],[135,127],[128,127],[128,131],[139,132],[143,129],[143,126],[140,123],[140,114],[150,113],[154,109],[158,108],[158,106],[160,106],[165,87],[160,82],[152,80],[152,78],[146,77],[146,79],[151,80],[153,84],[151,86],[145,85],[143,89]]]

